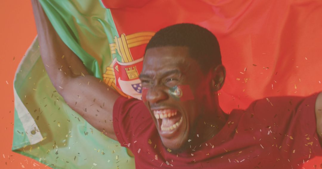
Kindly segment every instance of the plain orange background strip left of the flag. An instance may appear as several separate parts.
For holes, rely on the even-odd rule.
[[[14,73],[37,35],[31,1],[2,0],[0,18],[0,168],[50,168],[11,151],[14,128]]]

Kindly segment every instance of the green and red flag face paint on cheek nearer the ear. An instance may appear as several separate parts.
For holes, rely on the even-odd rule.
[[[169,94],[180,101],[194,100],[194,95],[189,85],[177,85],[169,89]]]

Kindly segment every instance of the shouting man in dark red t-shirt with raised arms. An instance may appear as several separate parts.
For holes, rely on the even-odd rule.
[[[322,94],[259,100],[230,115],[222,111],[217,91],[226,73],[207,29],[177,24],[156,33],[140,74],[142,102],[90,76],[40,4],[33,1],[33,9],[42,59],[57,92],[80,114],[99,110],[83,117],[131,149],[137,168],[295,168],[320,155]]]

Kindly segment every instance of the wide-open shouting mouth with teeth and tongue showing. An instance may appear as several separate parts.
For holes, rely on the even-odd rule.
[[[162,133],[173,133],[182,124],[182,115],[175,109],[160,109],[153,111]]]

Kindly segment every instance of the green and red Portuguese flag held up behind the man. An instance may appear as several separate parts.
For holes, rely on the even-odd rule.
[[[218,94],[227,113],[263,97],[322,89],[322,1],[39,1],[88,71],[128,98],[141,99],[138,75],[146,44],[160,28],[176,23],[198,24],[217,37],[227,71]],[[125,148],[56,92],[37,38],[17,69],[14,97],[13,151],[52,168],[135,168]],[[304,167],[320,161],[311,157]]]

